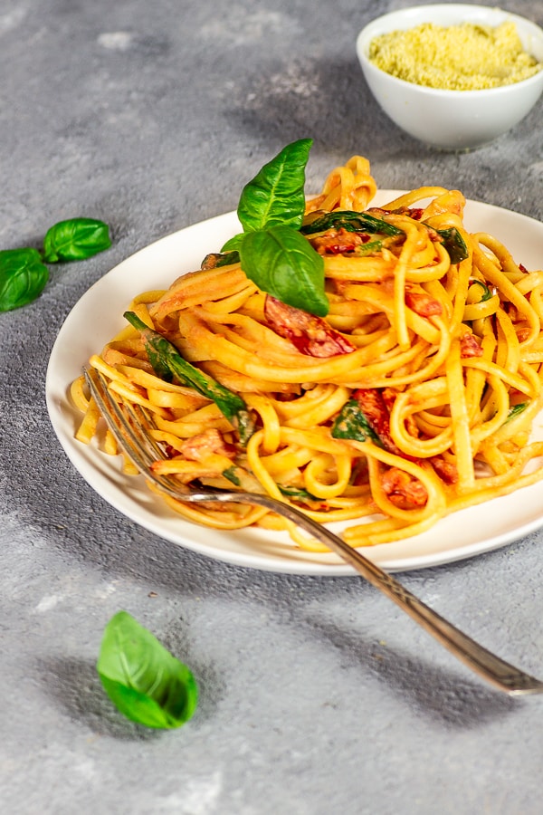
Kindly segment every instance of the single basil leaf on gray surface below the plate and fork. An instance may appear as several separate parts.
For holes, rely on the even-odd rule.
[[[194,676],[128,611],[110,619],[96,667],[110,700],[132,722],[172,729],[195,712]]]

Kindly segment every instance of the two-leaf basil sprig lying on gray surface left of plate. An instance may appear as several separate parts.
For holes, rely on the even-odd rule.
[[[109,227],[94,218],[60,221],[43,238],[43,252],[30,247],[0,251],[0,312],[33,302],[49,280],[45,264],[83,260],[111,245]]]

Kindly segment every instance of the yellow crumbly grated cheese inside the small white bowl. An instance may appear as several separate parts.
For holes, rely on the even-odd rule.
[[[433,23],[381,34],[370,43],[377,68],[405,82],[447,91],[482,91],[528,79],[543,67],[522,48],[514,23]]]

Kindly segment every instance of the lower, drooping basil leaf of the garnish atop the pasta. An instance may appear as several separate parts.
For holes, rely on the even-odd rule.
[[[263,292],[318,317],[328,314],[324,261],[300,232],[283,225],[250,232],[240,259],[243,272]]]

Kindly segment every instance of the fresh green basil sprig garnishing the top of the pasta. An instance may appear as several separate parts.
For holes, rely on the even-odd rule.
[[[227,241],[222,252],[239,252],[243,272],[263,292],[325,317],[324,262],[299,231],[312,143],[288,144],[243,187],[237,209],[243,233]]]

